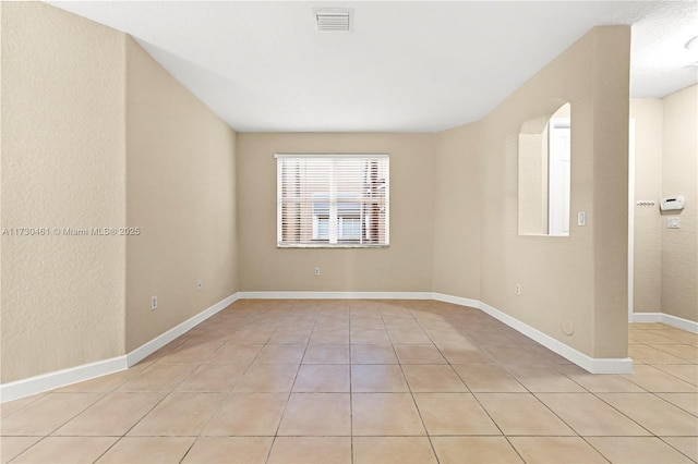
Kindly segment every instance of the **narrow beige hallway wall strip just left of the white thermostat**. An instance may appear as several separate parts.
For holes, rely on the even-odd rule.
[[[662,309],[662,230],[659,200],[662,196],[663,106],[659,98],[630,100],[635,120],[635,200],[654,206],[634,206],[634,313]]]

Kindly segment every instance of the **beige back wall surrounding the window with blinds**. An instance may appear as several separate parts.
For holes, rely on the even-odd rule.
[[[433,151],[431,134],[239,134],[240,289],[431,291]],[[389,154],[390,246],[277,248],[275,152]]]

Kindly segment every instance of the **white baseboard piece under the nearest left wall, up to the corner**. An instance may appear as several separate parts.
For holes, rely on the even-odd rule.
[[[127,356],[123,355],[2,383],[0,384],[0,403],[118,373],[128,367]]]

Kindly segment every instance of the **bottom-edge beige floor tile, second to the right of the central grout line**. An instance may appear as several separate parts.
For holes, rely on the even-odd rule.
[[[504,437],[432,437],[441,464],[522,464]]]

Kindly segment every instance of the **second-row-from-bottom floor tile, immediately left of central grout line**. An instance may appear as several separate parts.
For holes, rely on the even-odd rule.
[[[349,393],[291,393],[280,436],[350,436]]]

